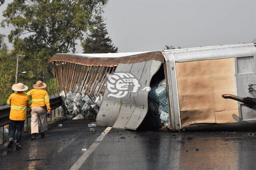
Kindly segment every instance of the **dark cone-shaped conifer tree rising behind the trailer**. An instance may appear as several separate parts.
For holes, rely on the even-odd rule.
[[[97,15],[90,28],[90,34],[82,42],[83,53],[115,53],[118,48],[112,44],[108,35],[106,24],[103,22],[101,15]]]

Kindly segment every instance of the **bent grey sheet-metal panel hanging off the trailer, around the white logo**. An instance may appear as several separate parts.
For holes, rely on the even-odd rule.
[[[149,86],[150,80],[161,66],[161,61],[150,60],[133,64],[119,64],[115,72],[132,73],[143,86]],[[100,126],[113,126],[119,129],[136,130],[148,111],[148,92],[128,94],[120,99],[107,97],[105,91],[96,122]]]

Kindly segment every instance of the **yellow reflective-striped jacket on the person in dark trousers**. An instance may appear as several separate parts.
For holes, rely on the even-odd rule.
[[[31,105],[28,95],[23,92],[12,93],[7,100],[11,106],[9,118],[11,120],[25,120],[27,115],[27,106]]]

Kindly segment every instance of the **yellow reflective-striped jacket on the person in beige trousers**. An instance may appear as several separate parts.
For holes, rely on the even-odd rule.
[[[31,107],[46,106],[47,111],[50,112],[50,100],[47,91],[34,88],[27,92],[27,95],[32,98]]]

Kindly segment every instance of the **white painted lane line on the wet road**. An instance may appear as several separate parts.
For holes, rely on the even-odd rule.
[[[74,163],[74,165],[70,168],[70,170],[78,170],[82,164],[86,161],[86,159],[93,153],[93,151],[100,144],[100,141],[106,136],[106,134],[111,130],[112,127],[107,127],[104,132],[96,139],[96,141],[86,150],[85,153]]]

